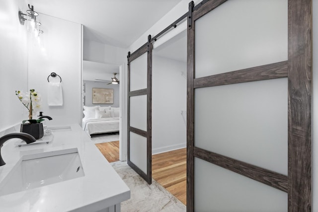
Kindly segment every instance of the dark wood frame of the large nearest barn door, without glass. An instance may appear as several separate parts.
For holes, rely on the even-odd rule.
[[[289,212],[310,212],[312,0],[288,0],[288,61],[194,78],[195,20],[227,0],[189,3],[187,41],[187,211],[194,211],[194,158],[288,193]],[[194,89],[288,77],[288,176],[194,146]]]

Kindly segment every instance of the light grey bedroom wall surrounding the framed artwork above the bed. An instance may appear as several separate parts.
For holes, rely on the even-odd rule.
[[[97,88],[108,88],[114,90],[114,104],[98,104],[100,106],[111,106],[111,107],[119,107],[119,84],[107,84],[108,82],[94,82],[84,80],[85,83],[85,105],[86,106],[95,106],[97,104],[92,103],[92,90],[93,87]]]

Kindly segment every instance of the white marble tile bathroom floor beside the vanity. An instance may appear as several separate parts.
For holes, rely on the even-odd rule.
[[[111,163],[131,190],[131,198],[121,203],[121,212],[185,212],[186,206],[153,179],[148,185],[126,161]]]

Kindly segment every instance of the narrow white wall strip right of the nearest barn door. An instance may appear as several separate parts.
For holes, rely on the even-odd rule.
[[[313,212],[318,212],[318,0],[313,0]]]

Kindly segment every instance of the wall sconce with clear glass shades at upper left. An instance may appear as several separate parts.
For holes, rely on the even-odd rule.
[[[28,6],[29,6],[29,9],[26,10],[26,14],[21,11],[18,12],[19,21],[21,25],[24,25],[24,22],[28,21],[27,22],[28,31],[34,32],[34,35],[37,37],[43,33],[43,31],[40,29],[41,23],[36,21],[36,17],[39,15],[39,13],[34,11],[33,5],[30,6],[30,4],[28,4]]]

